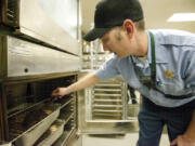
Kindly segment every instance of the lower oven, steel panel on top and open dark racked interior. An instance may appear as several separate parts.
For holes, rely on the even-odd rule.
[[[32,146],[60,116],[63,136],[50,140],[60,136],[60,144],[68,144],[77,132],[77,94],[52,101],[51,92],[77,80],[79,56],[5,36],[0,37],[0,140]]]

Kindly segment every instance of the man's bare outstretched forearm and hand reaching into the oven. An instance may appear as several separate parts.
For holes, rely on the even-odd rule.
[[[99,82],[99,79],[95,77],[95,72],[91,72],[67,88],[55,89],[52,92],[52,96],[63,97],[64,95],[67,95],[72,92],[92,87],[96,82]]]

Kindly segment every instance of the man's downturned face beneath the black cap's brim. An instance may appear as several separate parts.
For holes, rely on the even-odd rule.
[[[119,58],[132,54],[132,43],[121,27],[112,28],[101,38],[104,51],[115,53]]]

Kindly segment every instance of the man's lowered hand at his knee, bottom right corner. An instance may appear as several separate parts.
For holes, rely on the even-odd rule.
[[[185,135],[179,135],[177,138],[174,138],[171,143],[171,146],[195,146],[195,142],[192,142],[188,137]]]

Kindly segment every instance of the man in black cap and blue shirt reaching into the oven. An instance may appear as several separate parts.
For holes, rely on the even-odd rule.
[[[53,91],[53,96],[121,75],[140,91],[138,146],[158,146],[166,124],[170,145],[195,146],[195,35],[179,30],[145,30],[138,0],[102,0],[94,28],[84,39],[100,38],[115,53],[96,72]]]

